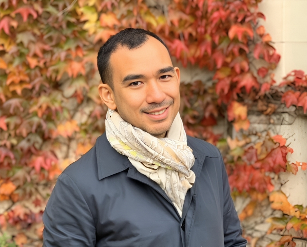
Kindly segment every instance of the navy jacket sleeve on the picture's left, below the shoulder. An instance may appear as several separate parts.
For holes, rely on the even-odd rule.
[[[95,224],[76,183],[65,173],[57,179],[43,214],[44,247],[95,246]]]

